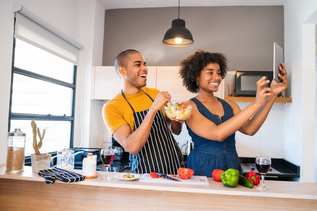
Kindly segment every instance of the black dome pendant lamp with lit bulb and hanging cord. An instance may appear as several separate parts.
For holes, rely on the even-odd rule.
[[[180,0],[178,0],[178,19],[172,21],[172,27],[167,30],[163,39],[163,44],[174,47],[188,46],[194,43],[190,31],[185,27],[185,21],[179,19],[179,2]]]

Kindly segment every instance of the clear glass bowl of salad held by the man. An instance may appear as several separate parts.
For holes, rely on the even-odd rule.
[[[168,104],[164,107],[165,114],[170,120],[187,120],[192,110],[192,105]]]

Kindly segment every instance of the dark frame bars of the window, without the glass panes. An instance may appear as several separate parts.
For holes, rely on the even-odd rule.
[[[75,114],[75,95],[76,95],[76,76],[77,76],[77,66],[73,65],[73,83],[67,83],[65,81],[57,80],[48,76],[44,76],[38,73],[31,72],[30,70],[20,69],[14,66],[15,60],[15,47],[16,38],[13,38],[13,54],[12,54],[12,71],[11,71],[11,91],[10,91],[10,105],[9,105],[9,120],[8,120],[8,132],[11,128],[11,120],[46,120],[46,121],[69,121],[70,122],[70,140],[69,148],[73,148],[73,135],[74,135],[74,114]],[[63,59],[63,58],[61,58]],[[50,82],[53,84],[65,86],[73,90],[72,94],[72,108],[71,116],[56,116],[56,115],[38,115],[38,114],[22,114],[22,113],[12,113],[12,94],[13,94],[13,77],[14,73],[20,74],[26,77],[31,77],[34,79]],[[50,154],[56,155],[56,151],[48,152]],[[31,163],[30,156],[25,156],[25,165]]]

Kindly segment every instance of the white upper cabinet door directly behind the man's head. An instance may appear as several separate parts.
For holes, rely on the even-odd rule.
[[[147,87],[156,87],[156,67],[147,67]],[[121,78],[114,66],[94,66],[91,99],[112,99],[122,89]]]

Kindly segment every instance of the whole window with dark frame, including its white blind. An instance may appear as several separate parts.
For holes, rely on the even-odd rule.
[[[46,130],[41,153],[72,147],[76,68],[84,46],[19,4],[15,12],[9,131],[26,133],[26,163],[34,152],[31,121]],[[37,136],[38,140],[38,136]]]

